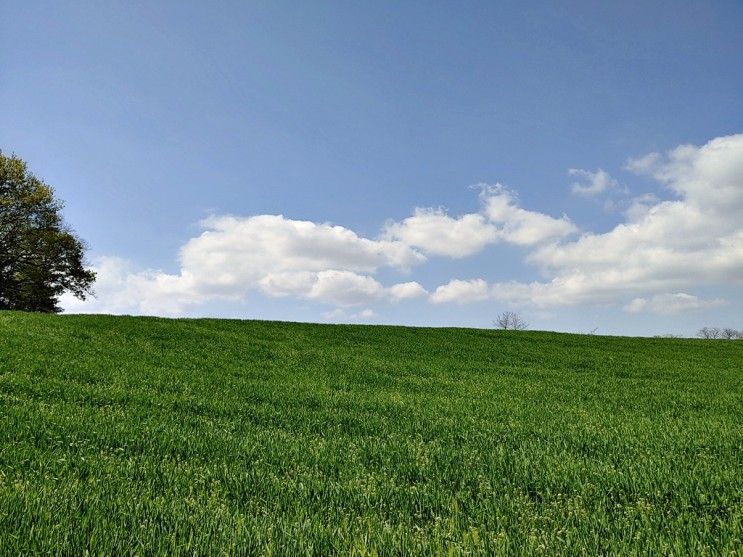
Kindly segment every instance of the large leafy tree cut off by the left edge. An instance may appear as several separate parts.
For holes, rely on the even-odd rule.
[[[58,312],[62,293],[91,293],[95,273],[62,207],[24,161],[0,152],[0,310]]]

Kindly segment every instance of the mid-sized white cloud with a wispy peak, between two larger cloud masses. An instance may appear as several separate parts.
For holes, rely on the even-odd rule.
[[[501,184],[481,187],[480,212],[454,218],[442,209],[418,208],[413,216],[388,223],[383,237],[431,255],[460,258],[496,242],[531,246],[578,230],[564,215],[522,209],[515,193]]]

